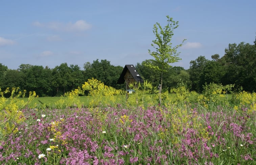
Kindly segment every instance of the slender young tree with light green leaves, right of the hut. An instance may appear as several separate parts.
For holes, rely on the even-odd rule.
[[[185,39],[182,41],[181,44],[172,47],[171,38],[173,36],[173,30],[178,28],[178,21],[173,21],[171,17],[166,16],[167,18],[167,25],[162,28],[160,23],[156,23],[153,27],[153,33],[156,35],[156,39],[153,40],[152,47],[155,49],[154,52],[148,50],[148,53],[153,56],[155,59],[151,60],[157,63],[157,65],[150,65],[149,67],[153,68],[154,70],[159,71],[161,74],[161,84],[159,89],[159,96],[160,96],[160,104],[161,104],[161,90],[163,84],[163,73],[167,72],[167,70],[171,67],[170,63],[177,62],[181,60],[178,56],[180,52],[177,52],[177,49],[182,46]],[[158,31],[160,29],[160,31]]]

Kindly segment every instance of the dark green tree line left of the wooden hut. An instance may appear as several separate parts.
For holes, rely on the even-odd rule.
[[[84,64],[84,70],[78,65],[62,63],[54,68],[31,64],[21,64],[17,70],[10,70],[0,63],[0,88],[19,87],[21,90],[36,91],[40,97],[60,96],[76,89],[91,78],[96,78],[108,86],[123,88],[116,84],[123,67],[114,66],[110,61],[94,60]]]

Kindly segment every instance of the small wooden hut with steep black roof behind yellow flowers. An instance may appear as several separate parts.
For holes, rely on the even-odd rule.
[[[130,83],[143,83],[143,79],[139,75],[139,73],[136,71],[136,68],[134,65],[125,65],[123,68],[123,71],[117,81],[117,84],[123,84],[125,82],[125,89],[127,92],[131,92],[132,89],[129,88]]]

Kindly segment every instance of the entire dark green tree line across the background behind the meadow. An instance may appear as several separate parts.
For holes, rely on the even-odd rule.
[[[235,84],[234,90],[253,92],[256,89],[256,40],[254,45],[248,43],[229,44],[225,55],[218,54],[199,56],[190,61],[189,69],[180,66],[170,67],[163,73],[163,91],[177,87],[178,83],[186,84],[191,91],[202,92],[203,86],[209,83],[223,85]],[[145,60],[135,65],[144,80],[159,86],[161,72],[154,70],[154,60]],[[8,69],[0,63],[0,88],[19,87],[21,90],[36,91],[40,97],[60,96],[67,91],[81,86],[91,78],[100,80],[108,86],[125,89],[116,84],[123,66],[111,65],[108,60],[86,62],[83,70],[78,65],[62,63],[54,68],[31,64],[21,64],[17,70]]]

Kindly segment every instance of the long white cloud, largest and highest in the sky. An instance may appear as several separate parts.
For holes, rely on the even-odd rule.
[[[33,22],[32,25],[37,27],[44,27],[58,31],[85,31],[92,27],[91,24],[87,23],[84,20],[78,20],[75,23],[61,23],[61,22],[49,22],[49,23],[40,23]]]

